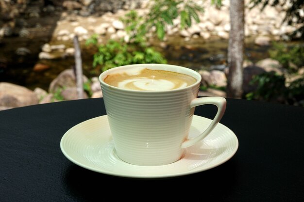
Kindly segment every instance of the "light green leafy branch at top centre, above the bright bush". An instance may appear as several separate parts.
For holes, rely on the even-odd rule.
[[[198,12],[203,12],[203,7],[192,0],[154,0],[148,16],[141,17],[136,11],[131,11],[121,20],[126,24],[126,31],[131,34],[130,38],[135,39],[135,42],[147,41],[149,32],[153,32],[158,39],[163,40],[166,25],[173,25],[173,20],[180,17],[181,29],[190,27],[192,20],[200,21]]]

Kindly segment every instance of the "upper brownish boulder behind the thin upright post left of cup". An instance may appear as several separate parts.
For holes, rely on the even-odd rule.
[[[84,78],[84,82],[88,80],[85,76],[83,76],[83,78]],[[75,74],[72,69],[64,70],[58,75],[57,78],[52,80],[49,87],[49,93],[54,93],[58,89],[63,89],[68,87],[76,87]]]

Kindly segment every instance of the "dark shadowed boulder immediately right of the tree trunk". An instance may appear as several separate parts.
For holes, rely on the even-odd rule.
[[[253,92],[256,90],[256,85],[250,85],[250,81],[253,79],[253,76],[260,75],[266,72],[263,68],[258,66],[247,66],[243,69],[243,94]]]

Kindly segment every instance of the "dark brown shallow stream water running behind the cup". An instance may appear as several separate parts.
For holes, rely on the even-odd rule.
[[[41,46],[48,43],[45,35],[36,35],[34,39],[21,37],[4,38],[0,44],[0,81],[6,81],[25,86],[34,90],[35,87],[48,90],[51,81],[65,69],[74,65],[73,57],[56,60],[39,60],[38,54]],[[62,44],[52,42],[52,44]],[[179,36],[171,36],[166,42],[167,46],[154,47],[160,51],[169,64],[181,65],[191,69],[209,69],[212,65],[225,64],[227,60],[227,40],[210,39],[205,42],[202,39],[191,39],[185,41]],[[71,43],[66,43],[71,47]],[[31,51],[30,54],[19,55],[17,49],[26,47]],[[257,62],[268,57],[270,47],[258,47],[253,44],[253,40],[246,40],[245,57],[247,60]],[[84,74],[90,78],[98,76],[101,72],[92,67],[94,51],[85,47],[82,43],[82,59]],[[37,72],[33,70],[36,63],[43,63],[50,66],[49,69]]]

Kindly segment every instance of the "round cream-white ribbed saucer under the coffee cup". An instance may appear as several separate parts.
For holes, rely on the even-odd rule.
[[[189,138],[209,125],[210,119],[194,116]],[[236,135],[223,124],[204,140],[186,149],[186,155],[164,166],[136,166],[115,153],[107,116],[89,119],[69,129],[60,142],[61,151],[73,163],[96,172],[135,178],[160,178],[205,171],[229,160],[238,147]]]

